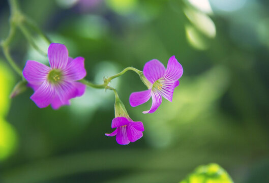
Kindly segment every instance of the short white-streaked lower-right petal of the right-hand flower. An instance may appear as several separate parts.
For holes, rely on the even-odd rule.
[[[162,89],[158,92],[168,101],[172,102],[174,88],[180,84],[180,81],[176,80],[175,82],[162,82]]]

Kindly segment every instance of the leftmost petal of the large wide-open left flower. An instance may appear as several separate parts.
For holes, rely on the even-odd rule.
[[[22,74],[29,83],[41,84],[46,80],[49,71],[48,66],[34,60],[27,60]]]

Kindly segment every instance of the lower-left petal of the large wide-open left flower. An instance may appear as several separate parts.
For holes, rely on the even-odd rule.
[[[47,107],[55,96],[55,90],[48,82],[43,82],[36,92],[30,97],[39,108]]]

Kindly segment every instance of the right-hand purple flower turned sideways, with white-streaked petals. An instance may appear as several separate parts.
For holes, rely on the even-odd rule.
[[[183,68],[177,62],[175,56],[170,57],[167,68],[157,60],[153,59],[147,62],[143,69],[145,78],[150,81],[145,81],[148,90],[132,93],[130,96],[130,104],[132,107],[141,105],[152,97],[152,107],[143,113],[153,113],[162,103],[162,96],[172,102],[174,88],[180,84],[178,79],[183,74]]]

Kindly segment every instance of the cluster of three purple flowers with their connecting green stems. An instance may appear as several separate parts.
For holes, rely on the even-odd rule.
[[[28,86],[34,89],[34,94],[30,98],[40,108],[51,105],[53,109],[58,109],[63,105],[70,105],[70,99],[80,97],[85,92],[85,83],[79,81],[86,76],[84,58],[73,59],[68,56],[65,45],[51,43],[48,48],[48,62],[50,67],[34,60],[27,60],[22,73]],[[175,56],[172,56],[166,69],[159,60],[153,59],[145,64],[143,72],[138,70],[137,72],[148,89],[132,93],[129,99],[130,105],[136,107],[152,98],[151,109],[143,113],[153,113],[162,103],[162,97],[172,102],[174,88],[179,85],[178,79],[183,74],[183,68]],[[104,82],[97,87],[113,89],[115,93],[115,118],[112,120],[111,128],[116,129],[105,135],[116,136],[117,143],[122,145],[135,142],[143,136],[143,123],[133,121],[129,117],[116,90],[108,86],[108,83]]]

